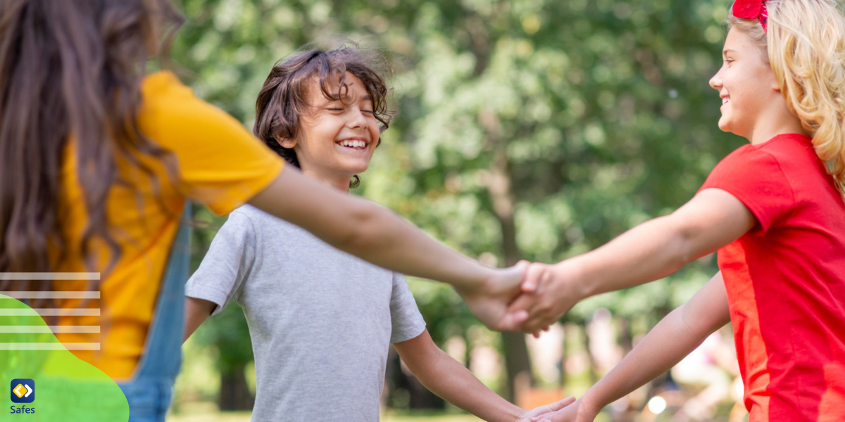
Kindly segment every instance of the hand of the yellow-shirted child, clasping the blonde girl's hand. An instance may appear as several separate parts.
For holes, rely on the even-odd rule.
[[[455,290],[466,300],[470,311],[490,329],[519,330],[528,312],[509,311],[508,306],[521,294],[520,285],[527,267],[528,262],[522,261],[510,268],[497,268],[482,284]]]

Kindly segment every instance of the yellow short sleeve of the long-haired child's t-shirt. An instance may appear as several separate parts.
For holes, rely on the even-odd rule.
[[[279,155],[172,73],[148,76],[142,95],[142,133],[176,155],[177,189],[215,214],[230,213],[281,173]]]

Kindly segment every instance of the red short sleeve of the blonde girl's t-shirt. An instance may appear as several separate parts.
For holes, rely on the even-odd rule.
[[[760,224],[760,234],[794,208],[792,186],[774,155],[745,145],[733,151],[707,177],[699,192],[722,189],[739,199]]]

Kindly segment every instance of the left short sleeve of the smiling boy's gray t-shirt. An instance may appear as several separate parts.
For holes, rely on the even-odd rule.
[[[252,221],[237,210],[215,235],[209,252],[185,284],[185,295],[217,304],[212,315],[236,300],[255,262],[256,235]]]

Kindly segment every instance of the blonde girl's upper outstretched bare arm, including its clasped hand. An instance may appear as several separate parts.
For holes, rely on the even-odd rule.
[[[595,251],[554,265],[532,264],[522,285],[529,294],[510,309],[527,310],[531,317],[522,328],[536,333],[579,300],[665,277],[756,224],[739,199],[706,189],[673,214],[638,225]]]

